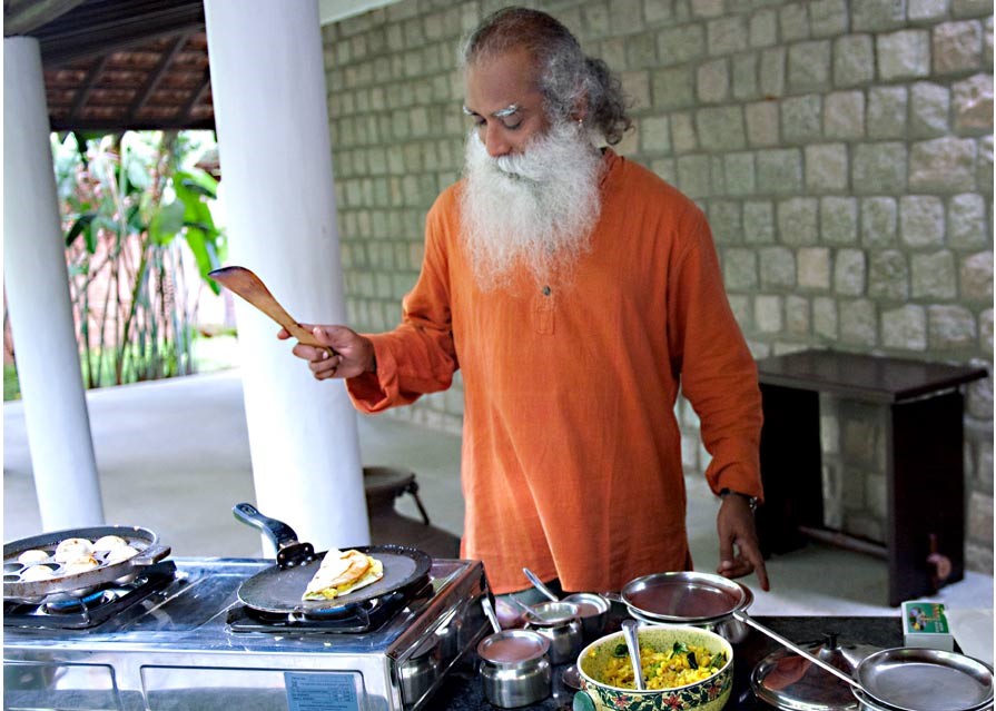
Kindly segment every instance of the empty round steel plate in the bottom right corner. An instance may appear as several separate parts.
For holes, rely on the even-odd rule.
[[[954,652],[882,650],[858,664],[856,679],[869,697],[898,711],[968,711],[993,702],[993,670]]]

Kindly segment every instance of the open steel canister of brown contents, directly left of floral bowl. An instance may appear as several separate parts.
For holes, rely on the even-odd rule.
[[[477,643],[484,698],[502,709],[514,709],[550,695],[553,668],[550,641],[532,630],[502,630]]]

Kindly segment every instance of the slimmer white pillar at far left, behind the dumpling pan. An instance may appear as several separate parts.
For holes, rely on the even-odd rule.
[[[46,531],[103,523],[38,40],[3,39],[3,277]],[[40,532],[39,532],[40,533]]]

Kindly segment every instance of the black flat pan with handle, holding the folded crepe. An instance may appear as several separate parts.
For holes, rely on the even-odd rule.
[[[387,595],[410,596],[428,580],[432,557],[405,545],[351,546],[384,564],[384,577],[333,600],[302,600],[308,582],[322,564],[310,543],[300,543],[287,524],[260,514],[249,504],[233,508],[236,519],[262,529],[278,547],[277,564],[245,581],[238,590],[243,604],[273,614],[334,615]]]

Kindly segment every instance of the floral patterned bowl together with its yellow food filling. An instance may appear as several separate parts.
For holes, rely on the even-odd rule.
[[[720,711],[733,688],[733,648],[719,634],[686,625],[639,630],[647,687],[638,691],[622,632],[578,656],[581,691],[574,711]]]

